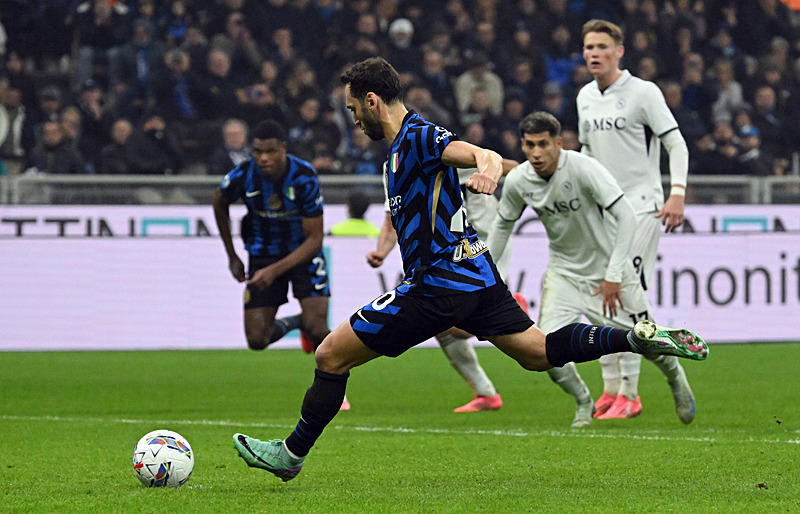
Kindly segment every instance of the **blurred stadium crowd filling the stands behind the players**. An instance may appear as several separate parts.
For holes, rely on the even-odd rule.
[[[774,175],[800,149],[800,30],[780,0],[4,0],[0,173],[222,175],[271,118],[319,173],[377,174],[339,76],[380,55],[406,104],[524,160],[532,110],[575,149],[592,76],[581,26],[625,30],[622,65],[656,82],[690,172]]]

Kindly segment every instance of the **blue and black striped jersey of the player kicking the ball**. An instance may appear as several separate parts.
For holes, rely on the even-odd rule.
[[[439,296],[501,281],[486,244],[467,223],[458,174],[442,163],[456,139],[410,112],[389,150],[386,196],[403,257],[401,292]]]

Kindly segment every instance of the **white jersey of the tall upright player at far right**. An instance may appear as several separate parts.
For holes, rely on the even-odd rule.
[[[658,86],[623,70],[603,92],[596,81],[583,86],[577,107],[581,144],[617,179],[634,211],[660,210],[659,137],[677,130],[678,122]]]

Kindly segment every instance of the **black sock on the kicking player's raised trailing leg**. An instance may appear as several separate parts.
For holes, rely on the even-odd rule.
[[[630,330],[573,323],[547,334],[545,351],[554,367],[568,362],[587,362],[603,355],[630,352]]]

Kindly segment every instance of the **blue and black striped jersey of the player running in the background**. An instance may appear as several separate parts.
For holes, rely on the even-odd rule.
[[[247,206],[252,234],[245,248],[258,257],[283,257],[304,241],[303,218],[322,216],[319,179],[310,163],[287,154],[289,171],[281,182],[271,182],[250,158],[222,179],[222,194]]]

